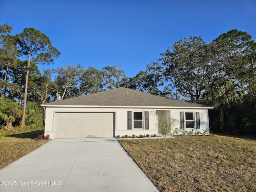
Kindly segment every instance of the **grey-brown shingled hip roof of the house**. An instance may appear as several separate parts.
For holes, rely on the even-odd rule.
[[[136,91],[128,88],[116,88],[94,94],[79,96],[42,106],[160,106],[160,107],[208,107],[201,104],[175,100],[163,96]]]

